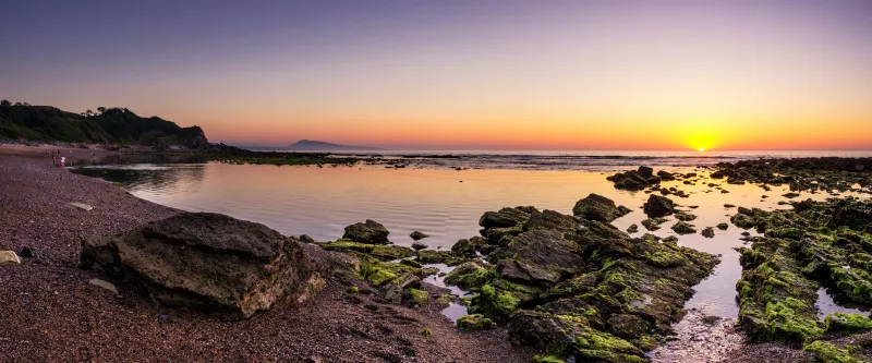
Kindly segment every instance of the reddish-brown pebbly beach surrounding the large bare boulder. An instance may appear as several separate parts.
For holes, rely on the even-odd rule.
[[[21,265],[0,265],[3,362],[507,363],[529,362],[534,353],[511,346],[505,329],[460,332],[435,307],[349,295],[354,281],[330,280],[303,305],[281,304],[238,322],[157,306],[123,282],[114,295],[88,283],[101,274],[78,268],[82,237],[130,230],[179,210],[52,167],[47,149],[0,147],[0,250],[35,254]],[[76,162],[94,153],[111,152],[65,155]]]

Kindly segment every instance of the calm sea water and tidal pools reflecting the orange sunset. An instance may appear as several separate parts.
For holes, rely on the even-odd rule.
[[[395,152],[391,157],[401,158],[400,155],[410,154]],[[485,211],[532,205],[571,214],[574,203],[591,193],[631,208],[632,213],[613,223],[622,230],[638,223],[640,232],[634,235],[641,235],[646,232],[641,227],[645,219],[641,207],[647,194],[616,190],[605,179],[615,170],[639,165],[707,176],[707,169],[695,166],[761,157],[872,156],[872,153],[808,152],[699,154],[455,152],[451,157],[444,158],[402,157],[408,164],[402,169],[384,166],[228,165],[155,156],[141,160],[124,156],[76,172],[122,182],[133,195],[158,204],[191,211],[222,213],[264,223],[288,235],[308,234],[318,241],[331,241],[342,235],[346,226],[374,219],[390,230],[389,238],[397,244],[411,245],[413,241],[409,234],[419,230],[431,235],[423,240],[431,247],[450,249],[457,240],[479,233],[479,218]],[[708,186],[708,183],[716,185]],[[676,186],[690,194],[688,198],[674,199],[698,216],[692,223],[699,230],[729,222],[729,216],[736,210],[725,208],[724,204],[770,210],[789,207],[777,205],[778,201],[785,199],[782,195],[788,192],[786,186],[766,192],[750,184],[729,185],[724,180],[703,180],[693,185],[673,181],[663,183],[663,186]],[[729,193],[720,193],[717,187]],[[826,193],[801,194],[801,199],[832,196]],[[653,233],[673,235],[669,227],[675,220],[669,219]],[[722,255],[722,264],[694,288],[697,293],[687,307],[714,305],[715,314],[736,317],[735,285],[741,267],[734,249],[743,245],[740,240],[742,231],[730,225],[726,231],[716,229],[714,239],[700,234],[679,235],[679,244]],[[822,313],[843,308],[827,298],[825,292],[822,293],[819,303]],[[447,314],[462,313],[457,306],[452,307],[457,312]]]

